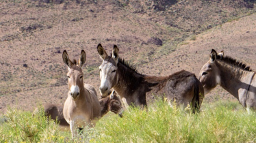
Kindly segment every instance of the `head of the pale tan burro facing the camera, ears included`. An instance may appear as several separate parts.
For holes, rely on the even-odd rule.
[[[68,93],[73,100],[77,100],[81,93],[81,90],[84,89],[84,73],[82,72],[81,67],[83,67],[86,62],[86,52],[81,50],[81,55],[78,63],[74,60],[71,61],[68,57],[66,50],[63,51],[62,59],[65,65],[68,67]],[[68,95],[69,96],[69,95]]]

